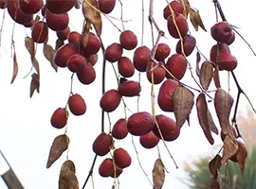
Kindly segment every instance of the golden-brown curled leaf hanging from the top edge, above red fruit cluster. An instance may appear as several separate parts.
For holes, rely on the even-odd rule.
[[[97,0],[83,0],[82,13],[86,21],[94,26],[98,36],[101,36],[102,22]]]

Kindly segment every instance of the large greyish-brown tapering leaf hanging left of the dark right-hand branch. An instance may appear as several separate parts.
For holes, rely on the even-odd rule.
[[[219,119],[220,127],[225,135],[229,133],[229,115],[233,105],[233,98],[221,88],[218,88],[214,97],[214,107]]]

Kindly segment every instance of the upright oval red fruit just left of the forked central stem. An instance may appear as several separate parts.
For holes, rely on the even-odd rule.
[[[134,53],[134,65],[137,71],[146,72],[151,51],[147,46],[139,46]]]

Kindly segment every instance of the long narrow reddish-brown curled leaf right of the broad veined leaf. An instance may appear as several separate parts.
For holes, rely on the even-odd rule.
[[[196,98],[196,110],[197,110],[199,124],[203,129],[210,145],[213,145],[214,139],[212,138],[211,132],[210,132],[210,120],[209,120],[209,114],[208,114],[209,110],[208,110],[205,94],[199,94],[198,97]]]

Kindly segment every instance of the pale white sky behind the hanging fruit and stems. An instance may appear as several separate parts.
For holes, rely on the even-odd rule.
[[[132,29],[137,33],[137,38],[141,37],[141,5],[140,1],[123,0],[124,7],[124,20],[131,20],[126,25],[126,29]],[[148,2],[145,1],[145,15],[148,14]],[[165,7],[165,1],[155,1],[155,19],[158,25],[166,30],[166,21],[162,17],[162,9]],[[212,2],[191,0],[192,7],[199,9],[203,22],[210,31],[210,27],[215,22],[214,7]],[[241,29],[239,31],[247,39],[254,49],[256,49],[255,42],[255,24],[254,24],[254,8],[256,3],[253,0],[248,0],[247,3],[241,1],[221,1],[226,17],[229,23],[238,26]],[[0,11],[0,17],[2,18],[3,10]],[[117,3],[115,11],[111,14],[119,18],[119,3]],[[71,29],[81,30],[82,26],[82,13],[80,10],[70,11],[70,22],[72,24]],[[119,21],[115,21],[120,26]],[[147,23],[147,17],[145,18],[145,44],[151,46],[151,30]],[[2,19],[0,20],[0,24]],[[12,21],[6,16],[4,30],[2,34],[1,45],[1,57],[0,57],[0,149],[4,152],[9,163],[13,167],[15,173],[22,181],[23,185],[27,189],[54,189],[58,186],[59,172],[61,164],[64,163],[65,153],[59,161],[54,163],[52,167],[46,169],[46,161],[49,152],[49,148],[53,139],[60,134],[64,133],[64,129],[54,129],[50,125],[50,117],[59,107],[64,107],[69,94],[70,87],[70,72],[66,69],[59,69],[58,74],[54,72],[47,60],[42,55],[41,45],[38,47],[37,58],[40,62],[41,68],[41,93],[34,94],[29,98],[29,85],[30,76],[26,77],[27,72],[30,69],[31,63],[27,50],[24,47],[24,38],[26,32],[29,34],[30,30],[25,30],[22,26],[16,26],[15,29],[15,45],[17,51],[17,59],[19,64],[18,77],[14,81],[14,84],[10,85],[10,79],[12,75],[12,60],[10,59],[10,35],[11,35]],[[209,57],[210,47],[214,44],[214,41],[210,38],[210,33],[205,33],[200,29],[199,32],[195,32],[192,27],[192,35],[196,37],[197,45],[200,50]],[[118,30],[109,24],[108,21],[103,21],[102,39],[107,46],[110,43],[119,42]],[[55,34],[51,33],[49,43],[54,46]],[[175,52],[176,40],[171,39],[166,32],[167,40],[162,39],[161,42],[169,43],[172,48],[172,53]],[[236,36],[235,43],[230,46],[232,54],[234,54],[238,60],[238,67],[235,73],[240,81],[241,86],[247,92],[251,101],[256,106],[254,76],[255,76],[255,60],[251,51],[247,47],[247,44]],[[101,52],[99,53],[101,57]],[[130,56],[132,53],[124,51],[125,56]],[[192,65],[195,65],[195,52],[191,55],[190,61]],[[77,177],[82,184],[87,177],[89,168],[94,158],[92,151],[92,143],[101,131],[101,109],[99,106],[99,100],[101,98],[101,59],[96,65],[97,79],[89,86],[82,85],[75,77],[73,92],[82,94],[87,104],[87,112],[84,116],[76,117],[70,114],[68,120],[68,136],[70,138],[69,146],[69,159],[72,160],[77,167]],[[107,89],[117,88],[116,78],[110,63],[107,66]],[[137,79],[137,76],[134,77]],[[221,76],[223,86],[227,86],[227,74]],[[191,81],[189,72],[186,77],[182,79],[185,83]],[[236,88],[231,82],[231,94],[236,96]],[[150,87],[151,85],[146,80],[146,77],[142,75],[142,93],[140,101],[140,110],[151,110],[150,101]],[[155,86],[155,91],[159,86]],[[213,86],[212,86],[213,89]],[[226,88],[227,89],[227,88]],[[195,93],[197,96],[197,93]],[[156,99],[157,93],[155,93]],[[129,108],[136,112],[137,98],[125,99]],[[213,104],[210,105],[213,107]],[[241,104],[239,109],[243,111],[248,107],[247,100],[244,96],[241,98]],[[156,113],[160,112],[156,109]],[[173,113],[165,113],[174,117]],[[217,119],[214,115],[215,123]],[[120,105],[116,112],[110,113],[111,121],[114,124],[120,117],[123,117],[123,108]],[[174,163],[168,156],[166,149],[160,145],[161,155],[163,162],[169,174],[166,175],[166,181],[163,186],[165,188],[186,189],[184,184],[180,180],[185,180],[185,173],[183,171],[184,161],[192,162],[199,156],[216,153],[218,151],[218,144],[220,144],[219,136],[215,137],[216,145],[210,146],[207,142],[200,126],[197,122],[196,112],[192,111],[191,127],[186,125],[181,130],[179,138],[168,143],[168,146],[174,155],[175,161],[179,165],[179,169],[175,169]],[[106,131],[108,131],[106,120]],[[156,148],[147,150],[139,145],[138,138],[135,137],[135,142],[140,161],[149,175],[152,178],[151,172],[155,159],[157,158]],[[123,141],[116,141],[116,147],[124,147],[132,156],[132,165],[125,169],[121,174],[120,188],[150,188],[150,184],[142,171],[138,167],[135,150],[131,143],[131,136],[128,136]],[[105,157],[104,157],[105,158]],[[104,158],[99,158],[95,166],[94,182],[96,188],[111,188],[111,179],[103,179],[98,174],[98,167]],[[7,170],[7,166],[1,160],[0,174]],[[0,188],[5,189],[6,186],[2,180],[0,180]],[[91,181],[89,181],[86,188],[92,188]]]

